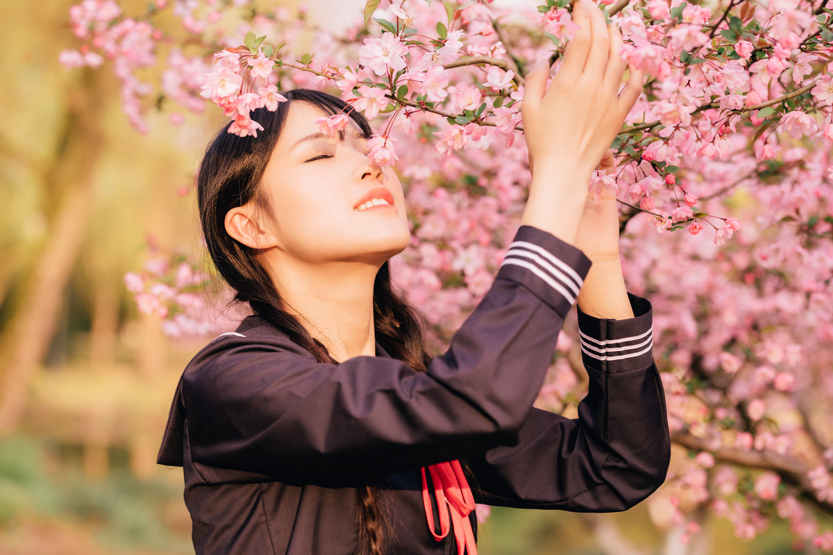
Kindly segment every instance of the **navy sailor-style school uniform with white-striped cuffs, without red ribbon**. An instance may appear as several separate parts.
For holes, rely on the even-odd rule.
[[[378,344],[375,357],[319,363],[257,316],[207,344],[157,459],[184,468],[197,554],[353,553],[362,484],[379,488],[389,553],[456,553],[453,534],[437,542],[427,527],[421,467],[457,458],[477,503],[606,512],[646,498],[670,459],[647,300],[629,294],[627,320],[579,310],[590,385],[578,418],[532,408],[590,265],[522,225],[425,373]]]

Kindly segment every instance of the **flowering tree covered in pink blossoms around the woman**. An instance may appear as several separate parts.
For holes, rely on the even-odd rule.
[[[337,34],[303,9],[250,0],[155,0],[144,12],[82,0],[69,14],[78,43],[61,59],[112,71],[140,132],[149,110],[179,125],[183,112],[216,105],[230,132],[255,136],[251,111],[277,109],[282,91],[340,95],[377,130],[370,156],[402,168],[412,245],[394,259],[395,277],[447,338],[491,284],[523,206],[523,76],[546,57],[557,72],[576,32],[569,0],[539,3],[368,0]],[[626,279],[654,305],[678,449],[648,503],[684,540],[707,514],[745,539],[783,519],[796,548],[833,551],[820,525],[833,515],[827,3],[600,5],[646,85],[611,145],[616,167],[588,185],[616,191]],[[346,122],[319,124],[335,133]],[[188,260],[155,253],[126,283],[171,335],[231,325],[207,314],[197,295],[207,277]],[[539,403],[571,414],[585,388],[567,325]]]

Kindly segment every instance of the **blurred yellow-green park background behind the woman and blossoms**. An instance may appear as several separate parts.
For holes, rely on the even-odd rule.
[[[75,44],[72,3],[0,5],[0,553],[193,553],[182,469],[157,466],[156,453],[179,374],[201,345],[168,339],[157,317],[139,314],[124,275],[149,249],[190,245],[200,256],[189,191],[222,116],[173,126],[151,114],[151,131],[134,131],[112,72],[57,62]],[[312,2],[310,17],[337,22],[333,5]],[[777,524],[752,543],[721,521],[705,534],[716,553],[791,553]],[[496,508],[479,548],[682,546],[642,507],[603,517]]]

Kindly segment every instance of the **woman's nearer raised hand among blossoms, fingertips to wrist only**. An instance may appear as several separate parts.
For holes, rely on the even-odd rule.
[[[572,18],[581,29],[567,45],[549,89],[549,63],[526,75],[521,116],[530,161],[589,179],[642,92],[642,72],[631,67],[626,86],[617,95],[626,70],[619,57],[619,29],[606,25],[604,14],[591,0],[577,0]],[[576,183],[582,187],[576,190],[581,199],[586,186]]]

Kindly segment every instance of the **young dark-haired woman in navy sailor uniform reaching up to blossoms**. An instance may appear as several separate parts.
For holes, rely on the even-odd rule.
[[[617,511],[662,483],[651,305],[626,293],[615,199],[587,199],[641,75],[617,95],[616,27],[588,0],[574,18],[550,87],[548,65],[526,77],[521,228],[440,356],[392,289],[404,196],[367,157],[362,115],[290,91],[255,112],[257,138],[223,130],[208,147],[202,229],[254,315],[188,364],[159,453],[184,467],[197,553],[474,555],[475,502]],[[340,111],[339,139],[316,135]],[[565,419],[532,403],[576,300],[590,388]]]

